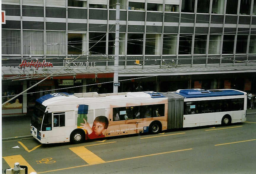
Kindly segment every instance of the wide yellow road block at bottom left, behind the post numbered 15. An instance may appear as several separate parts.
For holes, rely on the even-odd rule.
[[[8,157],[3,157],[4,160],[7,162],[7,164],[13,168],[14,167],[14,163],[15,162],[19,162],[20,165],[25,165],[28,167],[28,173],[31,172],[36,172],[36,170],[34,170],[31,165],[28,164],[28,162],[26,162],[26,160],[21,156],[21,155],[13,155],[13,156],[8,156]]]

